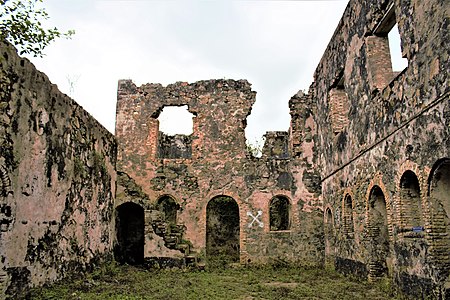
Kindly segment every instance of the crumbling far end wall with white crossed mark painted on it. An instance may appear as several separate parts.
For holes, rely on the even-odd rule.
[[[226,196],[239,207],[235,216],[240,224],[239,242],[230,247],[238,248],[241,262],[282,259],[320,264],[323,237],[318,193],[308,191],[301,182],[303,164],[291,158],[289,135],[268,133],[262,158],[251,157],[246,151],[244,130],[254,101],[255,92],[244,80],[176,83],[167,87],[158,84],[137,87],[128,80],[119,81],[116,122],[119,169],[149,196],[151,205],[145,205],[147,236],[153,228],[164,236],[166,244],[172,240],[161,233],[166,229],[150,225],[154,223],[152,209],[161,199],[169,197],[179,206],[176,223],[185,228],[183,238],[201,256],[207,251],[207,231],[213,230],[207,230],[208,220],[217,223],[223,219],[208,218],[215,213],[209,208],[216,205],[208,204],[215,203],[212,200],[225,203],[220,197]],[[195,115],[193,133],[168,139],[159,132],[159,113],[164,106],[182,105],[187,105]],[[189,145],[183,140],[191,144],[190,155],[185,155],[183,149]],[[180,151],[177,143],[183,144],[178,148]],[[162,148],[171,149],[171,154],[161,155],[158,149]],[[177,152],[180,156],[174,158]],[[310,152],[307,151],[308,155],[312,155]],[[280,207],[288,207],[285,214],[288,220],[273,228],[283,230],[271,230],[270,225],[271,220],[279,221],[270,218],[271,203],[277,196],[282,198]],[[124,199],[118,206],[133,202],[129,196]],[[154,239],[145,241],[145,257],[170,255],[163,247],[147,246],[154,242]]]

